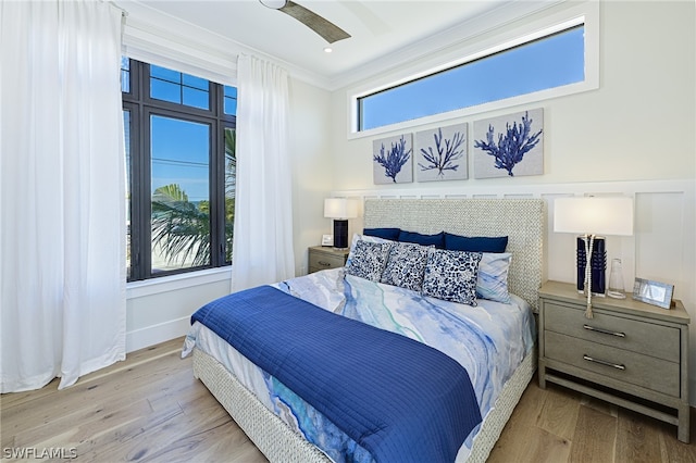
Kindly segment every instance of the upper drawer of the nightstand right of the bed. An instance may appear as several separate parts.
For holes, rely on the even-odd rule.
[[[680,330],[670,326],[601,313],[594,318],[573,306],[547,303],[544,328],[580,339],[680,362]]]

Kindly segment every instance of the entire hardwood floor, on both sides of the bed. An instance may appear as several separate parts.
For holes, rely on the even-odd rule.
[[[53,452],[40,461],[265,462],[194,378],[182,342],[133,352],[62,391],[54,380],[2,395],[0,458],[22,460],[24,451]],[[488,462],[696,463],[696,445],[679,442],[675,426],[552,384],[542,390],[533,379]]]

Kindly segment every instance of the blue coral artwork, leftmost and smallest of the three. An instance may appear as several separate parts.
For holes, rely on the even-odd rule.
[[[377,185],[413,182],[413,136],[401,134],[374,140],[372,174]]]

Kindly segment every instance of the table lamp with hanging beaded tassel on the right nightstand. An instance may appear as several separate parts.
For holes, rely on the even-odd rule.
[[[587,293],[585,316],[592,318],[592,296],[604,296],[607,254],[600,235],[633,235],[633,199],[626,197],[558,198],[554,232],[577,237],[577,291]]]

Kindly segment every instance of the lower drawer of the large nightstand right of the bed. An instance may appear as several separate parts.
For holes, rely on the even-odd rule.
[[[545,331],[544,356],[604,376],[680,397],[680,364]]]

